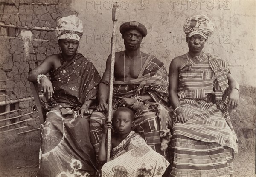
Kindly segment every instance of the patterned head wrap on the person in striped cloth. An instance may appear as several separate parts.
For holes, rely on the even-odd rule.
[[[207,39],[212,34],[213,29],[213,23],[205,15],[195,15],[194,17],[187,18],[184,24],[186,37],[199,34]]]

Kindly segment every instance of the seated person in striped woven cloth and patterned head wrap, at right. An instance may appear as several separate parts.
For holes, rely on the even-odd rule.
[[[233,176],[238,141],[228,107],[238,105],[239,84],[226,61],[203,51],[213,28],[205,15],[186,19],[189,52],[170,64],[173,177]]]

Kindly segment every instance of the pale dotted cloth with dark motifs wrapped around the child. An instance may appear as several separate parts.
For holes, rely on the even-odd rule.
[[[134,131],[115,148],[111,161],[102,167],[102,177],[162,177],[169,162]]]

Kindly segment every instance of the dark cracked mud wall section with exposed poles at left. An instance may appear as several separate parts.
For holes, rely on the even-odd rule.
[[[0,0],[0,113],[6,112],[5,101],[18,101],[9,104],[9,111],[19,109],[0,119],[12,118],[33,112],[35,106],[27,77],[30,70],[38,66],[46,56],[60,53],[55,27],[61,17],[77,12],[70,8],[71,0]],[[28,98],[28,99],[27,99]],[[32,113],[12,121],[0,121],[7,126],[1,129],[22,131],[38,128],[37,113]],[[21,130],[20,130],[21,131]],[[19,130],[17,130],[19,132]]]

